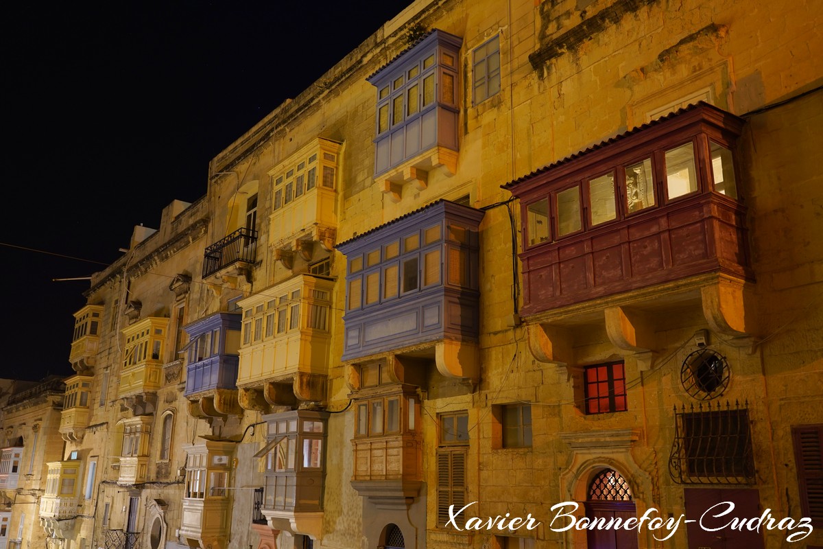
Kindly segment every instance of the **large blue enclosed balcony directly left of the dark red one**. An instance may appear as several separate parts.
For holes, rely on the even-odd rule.
[[[465,368],[477,359],[482,217],[440,200],[337,246],[347,260],[343,361],[409,352],[474,377]]]

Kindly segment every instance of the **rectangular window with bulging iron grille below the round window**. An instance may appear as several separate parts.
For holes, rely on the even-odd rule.
[[[755,480],[747,403],[675,407],[669,473],[679,484],[748,484]]]

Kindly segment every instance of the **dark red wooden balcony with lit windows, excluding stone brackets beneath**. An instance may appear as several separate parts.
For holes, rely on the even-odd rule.
[[[751,280],[733,153],[700,103],[517,179],[529,316],[709,273]]]

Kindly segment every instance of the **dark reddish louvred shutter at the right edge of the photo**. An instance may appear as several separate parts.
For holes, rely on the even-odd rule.
[[[794,427],[792,435],[803,516],[823,527],[823,424]]]

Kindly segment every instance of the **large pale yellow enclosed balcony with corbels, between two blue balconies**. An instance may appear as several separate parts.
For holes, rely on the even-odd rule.
[[[295,398],[323,400],[332,287],[327,277],[302,274],[239,301],[241,406],[269,412],[269,406],[291,405]]]

